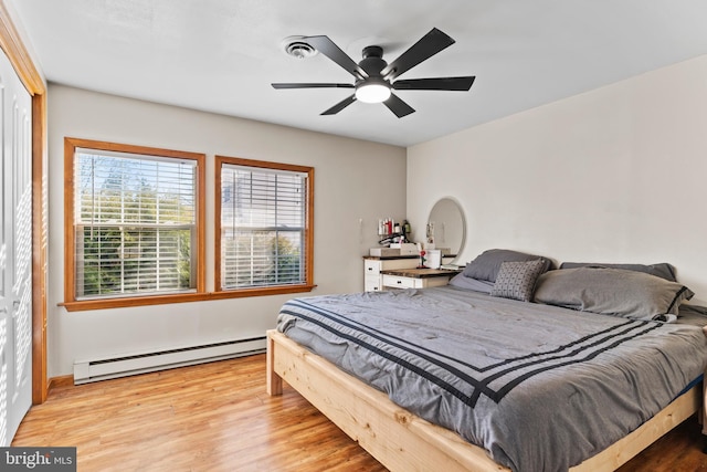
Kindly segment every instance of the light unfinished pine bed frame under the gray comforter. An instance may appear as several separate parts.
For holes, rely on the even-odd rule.
[[[394,405],[383,392],[273,329],[267,332],[267,394],[282,395],[283,380],[391,471],[509,470],[484,449]],[[618,469],[699,411],[703,402],[700,384],[631,434],[570,470]]]

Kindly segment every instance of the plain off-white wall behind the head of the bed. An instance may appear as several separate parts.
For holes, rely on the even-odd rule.
[[[408,217],[451,196],[462,261],[669,262],[707,304],[707,56],[408,149]],[[415,234],[418,239],[424,234]]]

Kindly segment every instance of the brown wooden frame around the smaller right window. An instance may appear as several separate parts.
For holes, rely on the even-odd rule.
[[[303,284],[271,285],[262,287],[247,289],[229,289],[222,290],[221,286],[221,178],[223,165],[235,165],[253,168],[263,168],[272,170],[285,170],[292,172],[302,172],[307,175],[307,195],[306,195],[306,218],[305,234],[303,243],[305,245],[305,282]],[[263,160],[243,159],[239,157],[215,156],[215,193],[214,193],[214,287],[217,297],[243,297],[243,296],[261,296],[276,295],[297,292],[310,292],[316,285],[314,284],[314,167],[296,166],[292,164],[278,164]]]

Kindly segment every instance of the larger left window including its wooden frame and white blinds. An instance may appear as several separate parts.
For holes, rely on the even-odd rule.
[[[203,162],[201,154],[65,139],[65,305],[204,291]]]

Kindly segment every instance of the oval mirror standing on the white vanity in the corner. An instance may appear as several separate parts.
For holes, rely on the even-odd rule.
[[[462,253],[465,237],[466,224],[458,203],[451,198],[437,201],[428,219],[426,241],[442,250],[442,256],[454,256],[454,263]]]

